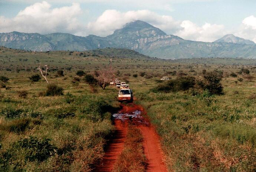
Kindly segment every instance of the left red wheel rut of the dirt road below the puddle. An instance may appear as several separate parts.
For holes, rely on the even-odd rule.
[[[121,154],[124,147],[125,137],[127,135],[128,125],[127,123],[122,123],[120,120],[114,120],[114,125],[116,128],[115,136],[111,143],[106,148],[105,155],[102,160],[102,164],[96,166],[93,170],[95,172],[110,172],[114,168],[114,164]]]

